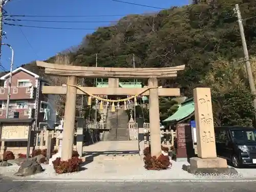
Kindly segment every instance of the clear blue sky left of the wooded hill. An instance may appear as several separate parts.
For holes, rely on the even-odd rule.
[[[121,0],[130,3],[152,7],[169,8],[188,4],[189,0]],[[129,5],[111,0],[11,0],[4,9],[10,15],[127,15],[151,13],[160,9]],[[90,21],[104,23],[41,23],[41,22],[13,22],[27,26],[55,27],[55,28],[86,28],[95,29],[108,26],[122,16],[105,17],[9,17],[28,20],[57,20],[57,21]],[[106,22],[106,23],[105,23]],[[3,42],[14,49],[14,67],[29,63],[33,60],[45,60],[58,52],[72,46],[79,45],[82,38],[94,30],[60,30],[40,29],[17,26],[3,26],[6,37]],[[9,70],[11,51],[2,46],[2,65]],[[0,69],[3,71],[2,69]]]

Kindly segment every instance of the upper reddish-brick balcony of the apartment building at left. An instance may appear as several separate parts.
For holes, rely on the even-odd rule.
[[[34,87],[11,87],[11,100],[33,99]],[[8,88],[0,87],[0,100],[7,100]]]

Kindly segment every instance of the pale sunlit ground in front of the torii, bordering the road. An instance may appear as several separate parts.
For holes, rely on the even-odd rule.
[[[202,180],[202,179],[216,179],[216,178],[199,178],[188,174],[182,170],[182,165],[188,164],[185,162],[173,161],[173,166],[167,170],[145,170],[142,161],[104,161],[91,162],[83,165],[83,170],[70,174],[56,174],[53,166],[42,164],[45,169],[44,172],[28,177],[14,177],[13,174],[17,172],[19,166],[12,165],[9,167],[0,167],[0,174],[7,177],[14,177],[15,179],[25,180],[45,180],[45,179],[72,179],[72,180]],[[220,179],[252,179],[256,178],[256,169],[237,169],[240,178],[220,178]]]

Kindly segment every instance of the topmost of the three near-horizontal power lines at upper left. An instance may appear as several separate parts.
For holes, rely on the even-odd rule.
[[[4,15],[6,17],[114,17],[126,16],[127,14],[120,15]]]

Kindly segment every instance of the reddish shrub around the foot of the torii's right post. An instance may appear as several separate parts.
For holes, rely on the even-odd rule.
[[[162,151],[168,152],[167,147],[162,146]],[[146,147],[143,151],[144,154],[144,167],[147,170],[162,170],[167,169],[172,163],[168,156],[160,155],[158,158],[156,156],[151,156],[150,147]]]

